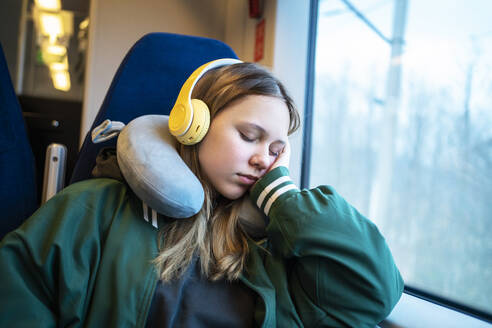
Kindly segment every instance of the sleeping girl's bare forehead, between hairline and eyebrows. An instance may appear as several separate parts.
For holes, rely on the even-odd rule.
[[[226,106],[214,121],[223,124],[252,123],[269,134],[287,136],[290,124],[289,109],[281,98],[249,95]],[[213,124],[214,122],[212,122]]]

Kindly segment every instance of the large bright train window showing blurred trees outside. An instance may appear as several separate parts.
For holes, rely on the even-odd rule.
[[[376,222],[407,290],[490,320],[492,2],[317,5],[309,185]]]

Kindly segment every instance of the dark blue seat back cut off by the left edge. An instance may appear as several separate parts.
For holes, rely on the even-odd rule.
[[[38,207],[35,161],[0,45],[0,239]]]

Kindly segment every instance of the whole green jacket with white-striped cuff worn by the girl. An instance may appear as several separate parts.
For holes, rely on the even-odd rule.
[[[391,253],[332,188],[299,191],[280,167],[251,197],[270,218],[241,277],[262,299],[259,326],[374,327],[389,314],[403,290]],[[48,201],[0,243],[0,327],[144,327],[158,230],[143,216],[142,202],[111,179]]]

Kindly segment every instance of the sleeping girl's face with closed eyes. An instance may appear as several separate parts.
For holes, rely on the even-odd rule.
[[[202,172],[228,199],[262,177],[287,143],[289,111],[282,99],[250,95],[219,112],[198,148]]]

